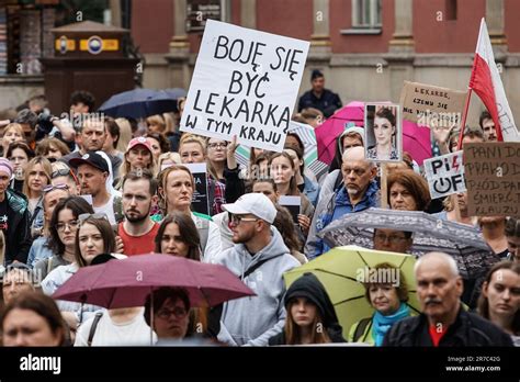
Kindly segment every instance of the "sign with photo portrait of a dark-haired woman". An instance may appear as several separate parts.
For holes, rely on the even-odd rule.
[[[365,157],[371,161],[400,161],[403,127],[400,106],[392,103],[365,103]]]

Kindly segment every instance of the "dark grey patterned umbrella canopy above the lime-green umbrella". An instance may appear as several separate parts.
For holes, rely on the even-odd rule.
[[[419,211],[369,209],[344,215],[328,225],[318,236],[330,247],[359,245],[373,248],[374,228],[412,232],[414,255],[422,256],[430,251],[451,255],[461,276],[466,279],[481,277],[500,260],[475,228],[441,221]]]

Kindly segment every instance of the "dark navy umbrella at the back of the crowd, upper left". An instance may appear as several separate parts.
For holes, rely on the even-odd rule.
[[[177,110],[177,100],[165,90],[134,89],[112,96],[99,109],[113,117],[143,119]]]

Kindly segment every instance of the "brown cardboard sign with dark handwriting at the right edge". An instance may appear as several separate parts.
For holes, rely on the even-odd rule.
[[[470,216],[520,216],[520,143],[464,145]]]

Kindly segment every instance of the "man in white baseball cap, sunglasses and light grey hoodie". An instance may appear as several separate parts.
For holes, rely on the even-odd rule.
[[[227,267],[257,295],[226,302],[222,316],[211,317],[219,323],[212,329],[230,346],[267,346],[285,324],[282,276],[299,262],[272,226],[276,209],[268,196],[247,193],[223,209],[229,213],[235,246],[217,256],[215,262]]]

